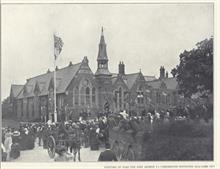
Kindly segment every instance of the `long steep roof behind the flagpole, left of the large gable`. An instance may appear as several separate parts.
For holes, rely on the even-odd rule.
[[[73,79],[73,77],[78,72],[79,68],[81,66],[81,62],[69,65],[67,67],[64,67],[62,69],[58,69],[56,71],[56,91],[57,93],[63,93],[65,92],[66,88],[68,87],[69,83]],[[25,88],[27,91],[27,97],[34,96],[34,88],[36,83],[38,83],[40,88],[40,96],[48,94],[48,88],[51,79],[54,77],[54,71],[48,72],[33,78],[30,78],[27,80],[25,84]],[[19,98],[23,98],[22,92],[19,94]]]

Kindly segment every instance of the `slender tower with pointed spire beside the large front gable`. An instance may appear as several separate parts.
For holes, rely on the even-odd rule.
[[[97,70],[95,73],[96,82],[98,85],[98,103],[100,111],[107,112],[105,105],[109,104],[109,109],[112,109],[113,92],[112,92],[112,74],[108,70],[108,56],[106,51],[106,43],[103,33],[103,27],[101,29],[101,38],[99,42],[99,51],[97,57]]]

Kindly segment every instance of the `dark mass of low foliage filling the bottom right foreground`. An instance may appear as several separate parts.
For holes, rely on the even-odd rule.
[[[212,122],[161,123],[143,142],[143,160],[213,160]]]

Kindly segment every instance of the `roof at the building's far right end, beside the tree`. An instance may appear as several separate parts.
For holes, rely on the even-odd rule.
[[[177,89],[178,83],[175,77],[148,81],[147,84],[153,87],[154,89],[159,89],[161,87],[162,82],[166,84],[167,89],[170,89],[170,90]]]

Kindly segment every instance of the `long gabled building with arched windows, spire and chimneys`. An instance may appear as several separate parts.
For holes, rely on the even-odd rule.
[[[53,72],[27,79],[24,85],[12,85],[10,101],[14,115],[21,121],[47,121],[53,119],[54,79]],[[169,108],[177,103],[177,81],[165,75],[145,76],[141,71],[126,74],[125,64],[119,62],[118,73],[110,73],[106,43],[101,33],[97,70],[89,67],[85,56],[80,63],[69,63],[56,68],[56,99],[58,120],[75,118],[87,112],[91,116],[103,111],[141,113],[151,109]]]

